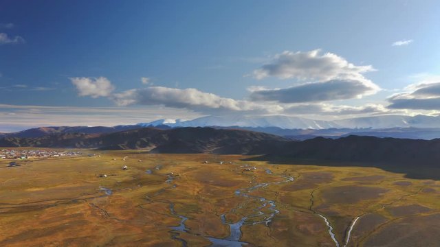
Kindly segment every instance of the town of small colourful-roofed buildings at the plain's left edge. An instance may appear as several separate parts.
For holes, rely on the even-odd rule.
[[[61,156],[80,155],[80,152],[65,152],[58,150],[10,150],[0,151],[0,158],[8,159],[28,159],[28,158],[51,158]]]

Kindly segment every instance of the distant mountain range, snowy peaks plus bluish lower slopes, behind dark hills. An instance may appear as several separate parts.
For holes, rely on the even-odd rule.
[[[216,117],[207,116],[182,121],[179,119],[160,119],[148,123],[120,125],[113,127],[54,126],[23,130],[20,132],[0,133],[2,137],[43,137],[47,134],[84,133],[107,134],[123,130],[135,130],[144,127],[159,129],[184,127],[212,127],[217,129],[251,130],[276,134],[288,139],[305,140],[314,137],[340,138],[349,135],[393,137],[405,139],[440,138],[440,117],[417,115],[385,115],[360,117],[335,121],[318,121],[300,117],[265,116],[265,117]]]

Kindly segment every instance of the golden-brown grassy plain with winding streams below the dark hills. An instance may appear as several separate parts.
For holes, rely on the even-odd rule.
[[[221,215],[234,223],[259,207],[235,191],[261,183],[270,184],[249,194],[273,200],[279,213],[269,224],[241,227],[248,246],[336,246],[318,213],[340,246],[356,217],[347,246],[440,242],[436,180],[369,167],[244,161],[249,156],[83,152],[96,156],[19,161],[19,167],[0,161],[0,246],[210,246],[208,237],[230,235]],[[243,171],[245,164],[256,169]],[[272,183],[282,175],[295,180]],[[185,231],[171,228],[179,226],[178,215],[188,218]]]

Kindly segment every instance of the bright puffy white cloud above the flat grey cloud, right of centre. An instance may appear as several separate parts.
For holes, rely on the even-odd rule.
[[[261,80],[268,76],[280,79],[318,80],[360,79],[362,73],[375,71],[371,65],[356,66],[344,58],[320,49],[313,51],[284,51],[277,54],[270,63],[254,70],[254,78]]]

